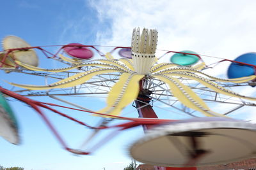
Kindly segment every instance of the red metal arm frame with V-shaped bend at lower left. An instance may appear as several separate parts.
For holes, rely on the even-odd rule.
[[[118,124],[118,125],[104,126],[104,127],[92,127],[92,126],[90,126],[88,124],[85,124],[85,123],[79,121],[79,120],[76,120],[75,118],[72,118],[72,117],[70,117],[68,115],[65,115],[64,113],[61,113],[58,110],[54,110],[54,109],[50,108],[47,105],[59,106],[59,107],[62,107],[62,108],[68,108],[68,107],[60,106],[60,105],[52,104],[52,103],[42,103],[42,102],[39,102],[39,101],[34,101],[32,99],[29,99],[28,97],[24,97],[24,96],[21,96],[19,94],[16,94],[15,92],[12,92],[10,90],[4,89],[1,86],[0,86],[0,92],[2,92],[3,94],[6,94],[7,96],[13,97],[13,98],[15,98],[15,99],[17,99],[19,101],[22,101],[23,103],[26,103],[29,106],[31,106],[43,118],[45,124],[47,124],[47,126],[52,131],[54,136],[56,136],[56,138],[60,142],[61,146],[63,146],[63,148],[65,148],[65,150],[67,150],[68,152],[76,153],[76,154],[79,154],[79,155],[88,155],[88,154],[90,154],[90,152],[84,152],[83,150],[76,150],[76,149],[69,148],[67,143],[65,143],[63,138],[61,138],[61,136],[58,133],[58,131],[56,131],[55,127],[52,125],[52,123],[44,115],[44,113],[40,110],[39,107],[46,108],[47,110],[51,110],[54,113],[57,113],[58,115],[61,115],[62,117],[68,118],[69,120],[77,122],[78,124],[84,125],[84,126],[89,127],[91,129],[119,128],[117,131],[114,131],[111,135],[108,135],[106,138],[102,139],[101,141],[96,143],[94,146],[92,146],[92,150],[95,150],[96,148],[99,148],[99,146],[102,146],[104,143],[106,143],[106,141],[108,141],[109,139],[113,138],[113,136],[116,136],[118,134],[118,132],[123,131],[125,129],[136,127],[138,125],[158,125],[158,124],[163,124],[163,123],[166,123],[166,122],[175,122],[175,121],[177,121],[177,120],[162,120],[162,119],[152,120],[152,119],[147,119],[147,118],[142,118],[141,119],[141,118],[126,118],[126,117],[111,116],[111,117],[122,119],[122,120],[130,120],[131,122],[126,122],[126,123]],[[75,108],[68,108],[68,109],[84,111],[84,110],[79,110],[79,109],[75,109]],[[89,112],[89,113],[93,113],[93,114],[102,115],[102,116],[108,116],[109,117],[109,115],[102,114],[102,113],[96,113],[96,112],[93,112],[93,111],[84,111],[84,112]]]

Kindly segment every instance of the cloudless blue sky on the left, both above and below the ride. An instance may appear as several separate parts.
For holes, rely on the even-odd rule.
[[[2,1],[0,4],[3,7],[0,12],[1,20],[6,25],[0,31],[1,38],[15,35],[35,46],[73,42],[93,45],[96,43],[97,32],[109,29],[111,24],[110,19],[100,20],[97,17],[97,10],[89,1]],[[6,75],[3,72],[0,74],[3,80]],[[17,80],[17,76],[12,78]],[[124,143],[120,141],[110,143],[99,153],[89,156],[77,157],[68,153],[61,148],[35,111],[13,100],[11,104],[19,120],[22,143],[14,146],[4,139],[0,140],[0,164],[4,167],[20,166],[38,170],[103,169],[103,167],[122,169],[131,161],[126,154]],[[58,123],[58,117],[54,119],[55,123]],[[60,126],[63,136],[69,138],[68,131],[76,132],[77,138],[85,136],[83,127],[76,129],[74,124],[67,125],[67,122],[63,120],[63,125]],[[124,135],[120,137],[128,141]],[[76,140],[73,142],[72,138],[74,136],[67,140],[68,144],[76,143],[77,146],[81,143]]]

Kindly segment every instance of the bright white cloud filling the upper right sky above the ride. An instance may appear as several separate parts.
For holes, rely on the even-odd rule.
[[[132,29],[147,27],[159,32],[157,49],[193,50],[226,59],[256,50],[256,1],[102,0],[91,4],[101,21],[111,22],[111,29],[97,33],[100,45],[130,46]],[[203,59],[207,64],[220,60]],[[166,60],[168,57],[163,58]],[[207,73],[227,78],[229,64],[220,64]],[[243,94],[250,90],[244,89]]]

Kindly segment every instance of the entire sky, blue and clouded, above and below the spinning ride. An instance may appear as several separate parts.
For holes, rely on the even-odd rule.
[[[0,38],[15,35],[33,46],[67,43],[129,46],[132,29],[147,27],[158,30],[158,49],[193,50],[228,59],[256,50],[256,2],[253,0],[10,0],[1,1],[0,5]],[[40,64],[45,65],[45,62]],[[217,68],[212,74],[225,77],[226,73]],[[1,80],[22,81],[19,76],[6,75],[3,71],[0,77]],[[0,85],[8,87],[3,81]],[[246,91],[255,92],[251,87]],[[86,102],[86,99],[77,101]],[[97,101],[94,102],[97,105],[95,103]],[[131,129],[93,155],[77,157],[61,148],[35,111],[15,100],[10,104],[19,120],[22,143],[14,146],[0,138],[0,165],[4,167],[20,166],[26,170],[123,169],[131,162],[127,147],[143,134],[141,128]],[[83,128],[45,112],[59,125],[58,129],[71,145],[79,143],[79,139],[86,135]],[[250,115],[250,118],[255,116]],[[93,118],[88,120],[93,121]]]

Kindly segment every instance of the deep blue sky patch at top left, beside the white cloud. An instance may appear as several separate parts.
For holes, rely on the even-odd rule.
[[[85,1],[8,1],[1,5],[2,22],[8,26],[1,35],[28,37],[29,32],[33,40],[27,41],[36,45],[70,40],[94,43],[98,26],[108,27],[99,22],[97,11]]]

